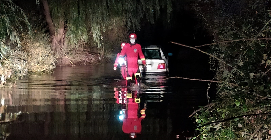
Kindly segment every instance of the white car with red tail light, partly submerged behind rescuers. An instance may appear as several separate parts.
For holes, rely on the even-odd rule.
[[[140,73],[156,73],[156,72],[169,72],[168,56],[172,53],[166,54],[165,51],[158,45],[150,45],[147,47],[142,47],[142,52],[146,59],[146,70],[142,61],[138,59]]]

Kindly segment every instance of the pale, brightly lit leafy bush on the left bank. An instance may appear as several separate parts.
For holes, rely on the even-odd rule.
[[[6,59],[1,62],[1,86],[15,82],[28,74],[43,74],[52,72],[55,68],[55,56],[51,55],[48,36],[43,33],[33,33],[21,37],[21,50],[11,48]]]

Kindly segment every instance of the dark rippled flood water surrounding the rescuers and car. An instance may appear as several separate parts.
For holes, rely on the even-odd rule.
[[[170,76],[206,79],[202,70],[179,66],[183,69],[172,67]],[[195,124],[188,116],[207,104],[208,82],[168,77],[145,75],[141,81],[147,88],[131,91],[140,98],[138,112],[146,104],[136,139],[193,135]],[[59,67],[51,75],[21,79],[15,88],[0,89],[1,132],[9,133],[7,139],[130,139],[119,118],[125,108],[120,94],[129,90],[125,82],[112,64]]]

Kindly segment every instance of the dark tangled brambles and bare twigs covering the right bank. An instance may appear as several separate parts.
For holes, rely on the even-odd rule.
[[[217,99],[196,112],[191,139],[271,139],[270,1],[198,1],[195,12],[213,36],[208,53]],[[214,84],[214,83],[210,83]]]

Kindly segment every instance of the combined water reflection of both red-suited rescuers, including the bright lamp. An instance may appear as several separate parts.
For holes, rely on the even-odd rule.
[[[122,88],[127,90],[127,88]],[[144,108],[140,110],[140,116],[138,114],[140,98],[138,96],[138,92],[131,93],[131,91],[123,91],[121,90],[119,93],[121,95],[117,95],[119,100],[117,100],[118,104],[122,104],[122,110],[120,111],[119,119],[122,120],[122,131],[124,133],[130,134],[130,138],[136,138],[137,134],[141,133],[141,120],[145,118],[145,110],[146,104],[144,104]],[[115,92],[116,93],[116,92]],[[123,94],[125,93],[125,94]],[[116,94],[115,94],[116,96]],[[124,106],[124,104],[126,104]]]

